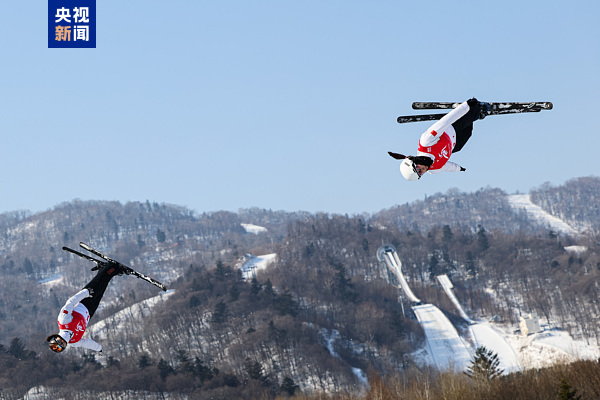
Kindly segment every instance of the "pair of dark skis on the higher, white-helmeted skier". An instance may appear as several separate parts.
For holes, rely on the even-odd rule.
[[[439,110],[456,108],[460,103],[445,103],[445,102],[415,102],[413,110]],[[552,103],[549,101],[542,102],[508,102],[508,103],[488,103],[490,110],[487,115],[502,115],[502,114],[520,114],[524,112],[540,112],[542,110],[551,110]],[[404,115],[398,117],[398,123],[419,121],[435,121],[441,119],[446,114],[423,114],[423,115]]]

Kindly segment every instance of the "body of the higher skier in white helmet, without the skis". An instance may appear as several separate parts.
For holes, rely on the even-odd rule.
[[[388,152],[400,163],[400,173],[409,181],[421,179],[425,172],[458,172],[466,169],[451,161],[450,156],[459,152],[473,133],[473,122],[483,119],[489,110],[488,103],[476,98],[461,103],[444,115],[421,135],[416,156]]]

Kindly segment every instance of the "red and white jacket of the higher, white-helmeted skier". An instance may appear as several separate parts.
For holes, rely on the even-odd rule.
[[[456,131],[452,124],[469,111],[465,101],[442,119],[431,125],[419,139],[418,156],[426,156],[433,160],[428,172],[437,174],[441,171],[458,172],[460,165],[448,161],[456,145]]]

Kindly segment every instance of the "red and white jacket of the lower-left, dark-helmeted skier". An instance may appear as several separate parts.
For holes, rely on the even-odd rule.
[[[83,333],[90,320],[88,309],[80,303],[81,300],[90,297],[87,289],[82,289],[71,297],[61,308],[58,315],[58,334],[65,339],[69,346],[85,347],[90,350],[102,351],[102,346],[92,339],[83,339]]]

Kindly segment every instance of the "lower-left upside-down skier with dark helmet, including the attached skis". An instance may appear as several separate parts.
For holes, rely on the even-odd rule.
[[[63,250],[73,253],[86,260],[96,264],[92,271],[98,270],[98,273],[87,285],[71,297],[58,314],[58,333],[46,338],[50,350],[60,353],[67,348],[67,345],[73,347],[85,347],[90,350],[99,351],[102,354],[102,346],[92,339],[83,339],[90,318],[94,315],[100,305],[100,300],[108,287],[111,279],[117,275],[133,275],[143,279],[156,287],[166,291],[167,287],[159,281],[152,279],[130,267],[113,260],[112,258],[100,253],[98,250],[88,246],[85,243],[79,244],[85,250],[101,258],[90,257],[78,251],[63,247]]]

